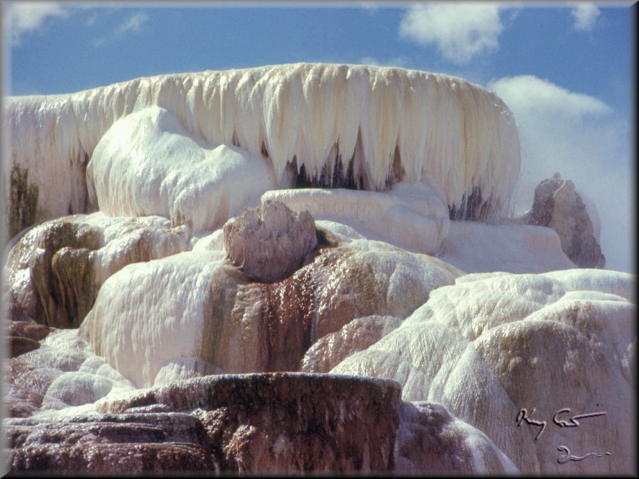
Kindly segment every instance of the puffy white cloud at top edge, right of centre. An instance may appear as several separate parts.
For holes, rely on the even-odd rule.
[[[503,31],[498,4],[420,4],[400,22],[400,37],[420,45],[436,45],[451,62],[468,63],[474,56],[498,50]]]

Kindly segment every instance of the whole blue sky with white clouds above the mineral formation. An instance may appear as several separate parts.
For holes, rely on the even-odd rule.
[[[634,270],[635,11],[610,2],[3,2],[4,94],[288,62],[457,75],[515,114],[520,204],[561,172],[599,209],[608,266]]]

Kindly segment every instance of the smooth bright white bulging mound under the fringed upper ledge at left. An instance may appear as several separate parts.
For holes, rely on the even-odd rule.
[[[211,140],[161,106],[129,112],[95,145],[88,197],[109,216],[155,214],[198,233],[222,228],[278,183],[267,158]]]

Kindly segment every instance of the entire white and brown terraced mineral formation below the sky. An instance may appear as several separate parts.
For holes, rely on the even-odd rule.
[[[635,276],[579,185],[510,211],[492,92],[300,63],[3,115],[9,470],[636,473]]]

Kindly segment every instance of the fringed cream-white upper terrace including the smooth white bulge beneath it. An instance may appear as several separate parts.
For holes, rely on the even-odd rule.
[[[4,123],[13,231],[92,208],[197,228],[209,207],[213,224],[202,226],[219,228],[241,213],[219,211],[225,202],[298,181],[383,191],[432,177],[455,215],[471,217],[507,207],[520,166],[513,115],[496,94],[400,68],[161,75],[10,97]]]

